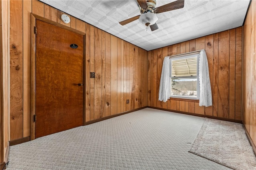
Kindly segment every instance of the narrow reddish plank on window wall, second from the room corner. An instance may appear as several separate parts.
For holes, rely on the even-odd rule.
[[[153,96],[152,96],[152,102],[153,102],[153,107],[157,107],[156,102],[157,102],[157,50],[153,50],[153,84],[152,84],[152,92],[153,92]]]

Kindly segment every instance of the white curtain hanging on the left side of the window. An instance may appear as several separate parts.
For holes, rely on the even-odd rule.
[[[158,100],[166,102],[170,98],[170,59],[164,58]]]

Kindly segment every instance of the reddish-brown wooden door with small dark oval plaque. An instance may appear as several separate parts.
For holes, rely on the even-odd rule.
[[[36,27],[38,138],[83,123],[83,35],[40,20]]]

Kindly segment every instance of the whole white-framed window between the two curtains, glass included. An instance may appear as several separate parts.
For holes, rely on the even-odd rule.
[[[199,55],[170,58],[170,97],[199,99]]]

